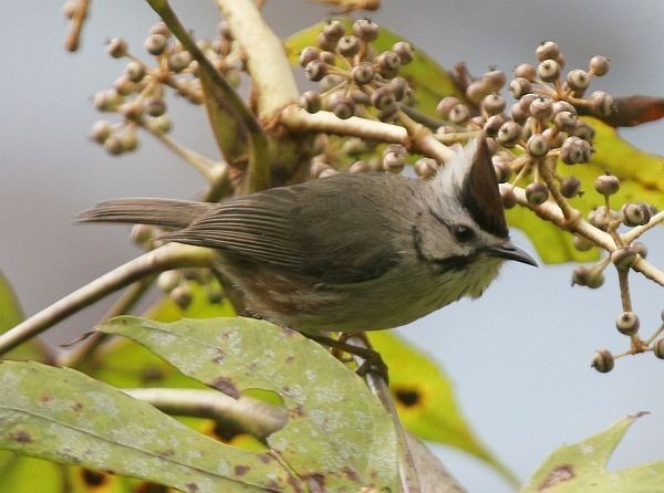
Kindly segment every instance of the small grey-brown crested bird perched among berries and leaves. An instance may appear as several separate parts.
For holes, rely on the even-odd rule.
[[[429,180],[339,174],[225,203],[110,200],[77,220],[217,249],[251,314],[312,336],[401,326],[480,296],[505,260],[537,265],[509,240],[484,139]]]

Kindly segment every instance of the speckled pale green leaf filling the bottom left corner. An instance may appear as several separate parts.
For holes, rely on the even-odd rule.
[[[0,363],[0,447],[188,492],[288,491],[271,455],[225,445],[69,368]]]

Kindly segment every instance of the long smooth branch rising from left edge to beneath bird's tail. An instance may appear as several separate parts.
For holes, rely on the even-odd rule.
[[[0,355],[41,334],[68,316],[139,279],[178,268],[210,266],[217,253],[200,246],[168,243],[134,259],[68,294],[0,335]]]

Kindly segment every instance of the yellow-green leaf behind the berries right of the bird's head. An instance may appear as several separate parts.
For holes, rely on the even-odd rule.
[[[561,176],[574,175],[582,182],[582,197],[570,199],[570,203],[582,214],[603,204],[603,197],[595,192],[593,182],[605,171],[620,178],[620,190],[611,196],[614,209],[625,202],[646,202],[664,209],[664,157],[645,153],[624,140],[616,130],[595,118],[584,118],[595,129],[594,155],[589,164],[558,165]],[[587,262],[599,258],[598,249],[578,251],[572,235],[556,225],[542,221],[530,210],[513,208],[507,212],[510,225],[522,230],[533,242],[546,263],[569,261]]]

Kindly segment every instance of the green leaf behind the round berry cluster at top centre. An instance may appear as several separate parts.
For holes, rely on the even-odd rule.
[[[346,32],[350,32],[352,22],[347,19],[340,19],[340,21],[345,25]],[[300,52],[305,46],[315,46],[315,39],[324,24],[325,22],[314,24],[311,28],[292,34],[283,41],[292,65],[299,65]],[[407,40],[381,25],[378,38],[371,45],[380,53],[381,51],[391,50],[397,41]],[[464,97],[459,94],[447,71],[442,69],[440,65],[422,50],[415,50],[414,60],[403,65],[398,70],[398,74],[408,81],[411,87],[415,90],[417,98],[415,106],[423,112],[433,114],[442,97],[450,95]]]

